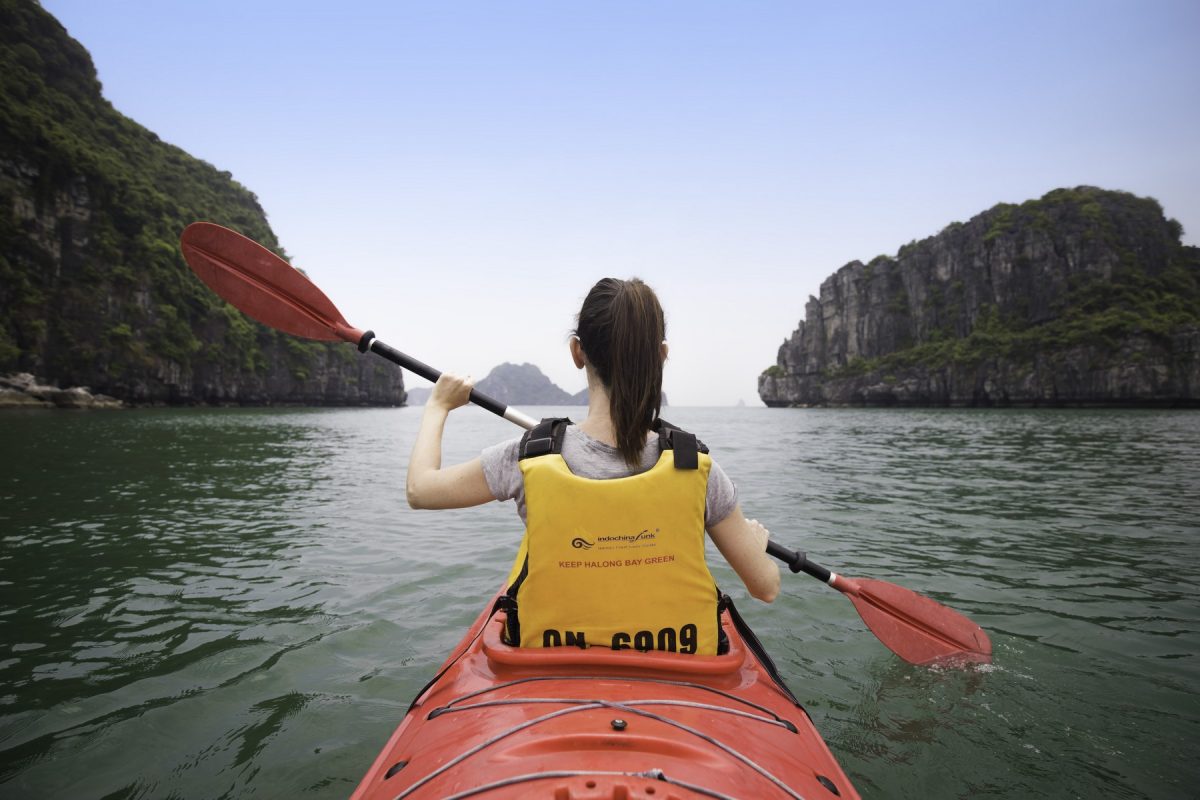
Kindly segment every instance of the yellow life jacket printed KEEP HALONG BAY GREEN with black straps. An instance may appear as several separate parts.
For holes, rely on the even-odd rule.
[[[521,443],[526,535],[509,575],[508,640],[716,654],[707,449],[662,423],[662,455],[649,470],[586,479],[563,461],[568,425],[544,420]]]

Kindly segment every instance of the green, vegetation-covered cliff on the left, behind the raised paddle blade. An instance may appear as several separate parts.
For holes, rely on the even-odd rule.
[[[132,403],[401,404],[401,372],[250,321],[187,269],[197,219],[278,251],[257,198],[118,113],[91,56],[0,0],[0,374]]]

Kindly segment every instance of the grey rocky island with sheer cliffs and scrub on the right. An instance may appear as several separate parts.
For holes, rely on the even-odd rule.
[[[851,261],[758,378],[772,407],[1200,407],[1200,248],[1151,198],[1000,204]]]

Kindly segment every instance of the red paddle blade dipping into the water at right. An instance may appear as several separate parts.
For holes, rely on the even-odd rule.
[[[838,576],[834,588],[850,597],[880,642],[908,663],[991,662],[991,639],[983,628],[929,597],[870,578]]]

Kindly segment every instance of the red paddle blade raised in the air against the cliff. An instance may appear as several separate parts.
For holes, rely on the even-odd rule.
[[[310,339],[356,344],[362,338],[312,281],[253,239],[194,222],[179,243],[187,265],[210,289],[264,325]]]

